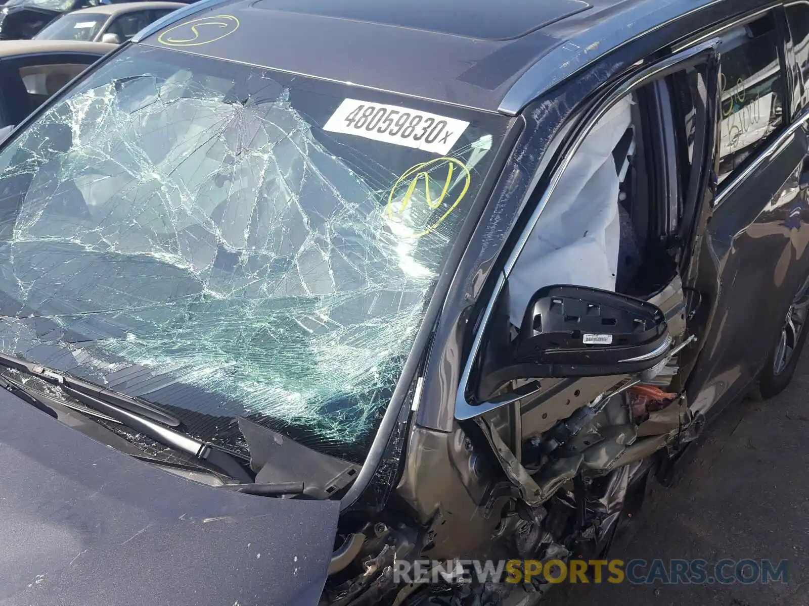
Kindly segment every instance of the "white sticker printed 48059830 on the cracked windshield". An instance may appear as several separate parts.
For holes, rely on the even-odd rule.
[[[447,154],[469,123],[407,107],[345,99],[324,130]]]

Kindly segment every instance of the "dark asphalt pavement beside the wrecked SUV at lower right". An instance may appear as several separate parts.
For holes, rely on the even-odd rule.
[[[780,396],[728,406],[694,454],[675,486],[650,482],[610,558],[788,560],[787,583],[565,584],[549,606],[809,604],[809,350]]]

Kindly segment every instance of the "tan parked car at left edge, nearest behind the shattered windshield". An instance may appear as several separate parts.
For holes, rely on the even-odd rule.
[[[74,40],[0,41],[0,128],[22,122],[115,44]]]

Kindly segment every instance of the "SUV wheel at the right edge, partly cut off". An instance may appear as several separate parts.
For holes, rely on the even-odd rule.
[[[758,391],[762,399],[777,396],[792,381],[803,343],[806,342],[809,333],[804,330],[807,312],[809,312],[809,280],[798,290],[790,309],[786,312],[781,335],[759,376]]]

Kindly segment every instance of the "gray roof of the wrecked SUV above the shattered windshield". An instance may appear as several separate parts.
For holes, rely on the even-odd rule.
[[[208,40],[177,49],[514,115],[544,90],[661,23],[718,4],[730,17],[766,3],[201,0],[146,27],[133,41],[165,48],[161,32],[227,15],[236,23],[232,32],[222,36],[221,26],[210,27],[216,33],[202,35]]]

